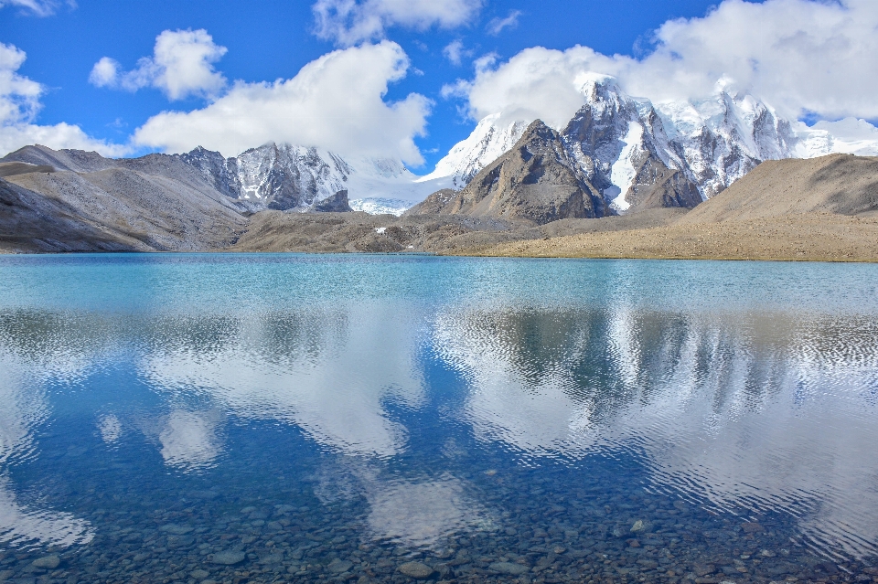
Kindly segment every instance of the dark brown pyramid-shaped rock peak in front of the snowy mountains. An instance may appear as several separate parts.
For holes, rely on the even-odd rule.
[[[512,150],[452,193],[434,193],[407,214],[461,214],[538,225],[607,215],[603,197],[571,160],[561,136],[540,120],[530,124]]]

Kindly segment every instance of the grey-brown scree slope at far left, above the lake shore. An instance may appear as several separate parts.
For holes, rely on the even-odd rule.
[[[0,179],[4,250],[217,250],[247,224],[232,199],[172,156],[110,165],[78,151],[23,154],[41,164],[0,164],[16,168]]]

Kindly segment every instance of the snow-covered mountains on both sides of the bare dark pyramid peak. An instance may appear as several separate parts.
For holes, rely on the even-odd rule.
[[[697,189],[702,199],[710,198],[764,160],[878,155],[878,129],[868,122],[818,122],[808,128],[722,83],[701,100],[653,103],[626,95],[612,77],[589,73],[576,81],[584,105],[556,130],[578,170],[617,212],[637,207],[659,184],[673,184],[668,188],[680,192]],[[530,122],[509,122],[502,112],[485,117],[423,176],[397,160],[342,157],[290,144],[267,143],[232,158],[203,148],[179,156],[220,193],[252,210],[305,211],[347,190],[355,210],[399,215],[438,190],[462,189],[509,152]]]

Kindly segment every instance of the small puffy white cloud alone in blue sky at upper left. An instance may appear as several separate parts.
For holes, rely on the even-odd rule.
[[[204,29],[166,30],[155,37],[153,56],[141,58],[136,69],[122,71],[118,61],[104,57],[91,69],[89,81],[129,91],[153,87],[171,100],[213,97],[226,86],[226,78],[213,67],[226,51]]]

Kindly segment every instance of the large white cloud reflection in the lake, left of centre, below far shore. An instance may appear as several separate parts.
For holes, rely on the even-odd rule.
[[[198,388],[243,417],[297,424],[314,440],[348,454],[391,456],[405,429],[388,419],[383,401],[423,400],[415,366],[417,330],[399,308],[313,309],[286,326],[272,317],[224,331],[218,344],[184,339],[158,347],[141,370],[164,389]]]

